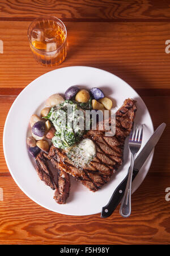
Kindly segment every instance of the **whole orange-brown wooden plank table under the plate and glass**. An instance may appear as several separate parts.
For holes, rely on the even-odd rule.
[[[108,219],[50,212],[23,193],[7,169],[2,136],[8,110],[25,86],[52,70],[37,64],[27,40],[29,24],[44,14],[67,27],[69,51],[58,68],[94,66],[118,75],[141,95],[154,128],[167,123],[128,219],[118,208]],[[169,31],[169,1],[0,1],[0,244],[170,244]]]

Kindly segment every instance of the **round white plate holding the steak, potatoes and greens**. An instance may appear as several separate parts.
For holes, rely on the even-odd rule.
[[[8,169],[14,181],[33,201],[51,211],[66,215],[91,215],[101,212],[101,208],[108,203],[114,189],[127,174],[130,165],[127,140],[124,150],[124,164],[118,169],[117,174],[113,175],[112,180],[105,184],[100,191],[94,193],[72,178],[70,196],[65,205],[57,204],[53,199],[54,191],[40,181],[28,156],[26,146],[30,116],[32,114],[40,115],[46,98],[54,93],[63,94],[72,85],[87,89],[100,87],[105,95],[116,100],[118,107],[127,98],[137,100],[138,110],[135,121],[146,124],[142,141],[142,146],[145,145],[154,128],[150,114],[141,97],[116,75],[87,66],[71,66],[41,75],[19,94],[7,115],[3,133],[3,149]],[[153,154],[154,152],[151,153],[135,178],[133,192],[137,190],[145,178]]]

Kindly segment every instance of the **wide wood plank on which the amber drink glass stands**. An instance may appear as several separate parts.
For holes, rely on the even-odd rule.
[[[27,40],[29,22],[0,22],[4,53],[0,87],[24,88],[49,72],[34,60]],[[58,66],[95,66],[112,72],[134,89],[169,89],[170,55],[165,53],[170,23],[66,23],[69,50]]]

